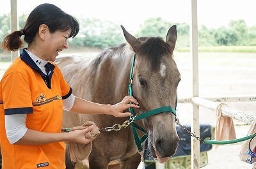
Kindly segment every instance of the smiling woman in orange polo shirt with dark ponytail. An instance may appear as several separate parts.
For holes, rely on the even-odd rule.
[[[116,105],[92,103],[72,94],[53,61],[79,31],[77,20],[53,4],[41,4],[23,29],[6,36],[2,47],[18,50],[20,36],[28,48],[6,70],[0,82],[0,127],[3,168],[65,168],[63,142],[89,143],[86,129],[61,133],[62,109],[81,114],[129,116],[122,111],[138,102],[131,96]],[[130,104],[130,103],[134,104]]]

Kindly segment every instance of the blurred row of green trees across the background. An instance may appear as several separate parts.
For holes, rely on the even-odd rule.
[[[24,27],[27,14],[19,17],[20,28]],[[120,26],[99,18],[80,18],[80,31],[76,38],[70,39],[69,45],[73,47],[106,48],[124,42]],[[176,47],[189,47],[189,25],[186,23],[173,23],[162,20],[161,17],[148,18],[140,26],[135,37],[159,36],[165,40],[168,29],[177,25]],[[10,13],[0,16],[0,40],[10,33]],[[256,45],[256,26],[246,26],[243,19],[231,20],[228,27],[207,29],[202,26],[198,31],[198,43],[201,47],[216,45]],[[3,51],[3,50],[2,50]],[[0,50],[1,52],[1,50]]]

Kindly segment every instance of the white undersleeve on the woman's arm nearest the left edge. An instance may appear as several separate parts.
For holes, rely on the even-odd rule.
[[[7,138],[10,143],[15,143],[20,140],[28,130],[28,128],[26,128],[27,114],[12,114],[4,116]]]

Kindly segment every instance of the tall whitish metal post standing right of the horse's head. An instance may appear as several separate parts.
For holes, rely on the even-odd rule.
[[[191,0],[190,52],[193,61],[193,97],[198,96],[198,26],[197,0]],[[198,105],[193,104],[191,132],[200,135]],[[200,168],[200,142],[191,137],[191,169]]]

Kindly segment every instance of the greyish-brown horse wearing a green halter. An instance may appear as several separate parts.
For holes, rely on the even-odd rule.
[[[166,41],[160,37],[135,38],[121,27],[127,43],[106,48],[93,59],[81,56],[56,59],[74,95],[97,103],[116,104],[127,96],[132,68],[132,96],[140,105],[140,108],[134,109],[135,115],[164,106],[174,109],[180,81],[180,73],[173,59],[177,27],[170,27]],[[134,55],[136,59],[132,67]],[[148,133],[148,149],[152,157],[161,163],[173,156],[179,145],[176,117],[169,111],[136,121]],[[81,126],[86,121],[93,121],[99,128],[106,128],[124,124],[128,118],[64,111],[63,127]],[[138,131],[138,135],[143,133]],[[138,168],[141,156],[137,146],[129,126],[119,131],[101,131],[93,140],[89,166],[106,169],[109,162],[118,160],[122,169]]]

